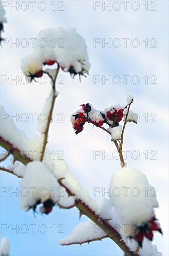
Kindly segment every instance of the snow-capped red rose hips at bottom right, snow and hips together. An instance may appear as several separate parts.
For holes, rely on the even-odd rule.
[[[154,214],[158,202],[145,193],[145,188],[151,191],[152,187],[142,172],[127,167],[115,171],[111,188],[119,189],[119,196],[112,195],[111,201],[122,226],[130,225],[127,232],[122,230],[124,236],[135,239],[141,247],[144,236],[152,240],[153,230],[162,232]],[[135,229],[131,229],[133,226]]]

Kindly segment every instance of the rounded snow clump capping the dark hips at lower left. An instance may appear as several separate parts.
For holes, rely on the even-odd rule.
[[[19,195],[20,207],[28,210],[38,201],[50,199],[54,204],[59,201],[59,183],[43,162],[34,161],[26,165],[25,175],[21,181],[24,195]]]

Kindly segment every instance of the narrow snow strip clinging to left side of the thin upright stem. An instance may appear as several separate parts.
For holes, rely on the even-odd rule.
[[[50,114],[50,108],[51,108],[51,104],[52,104],[52,98],[53,98],[53,90],[50,91],[50,94],[45,101],[44,108],[41,113],[41,115],[42,114],[44,115],[44,120],[38,119],[37,127],[38,127],[38,131],[41,134],[43,134],[45,132],[46,127],[47,127],[48,117]]]

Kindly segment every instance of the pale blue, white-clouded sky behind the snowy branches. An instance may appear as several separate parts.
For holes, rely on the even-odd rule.
[[[108,159],[103,155],[94,160],[94,150],[109,150],[113,153],[115,147],[110,138],[101,129],[94,128],[92,125],[85,125],[81,134],[75,135],[69,117],[71,113],[78,109],[78,105],[90,102],[97,109],[104,109],[111,105],[125,105],[125,96],[130,93],[134,97],[132,110],[140,116],[138,125],[129,123],[125,131],[124,149],[129,150],[127,155],[127,166],[138,168],[143,171],[150,184],[157,189],[157,199],[160,208],[156,209],[156,216],[161,222],[164,236],[155,235],[154,244],[157,244],[159,251],[163,255],[168,252],[168,1],[130,1],[125,10],[124,3],[121,4],[119,11],[111,2],[111,6],[105,7],[104,2],[108,1],[88,1],[88,0],[69,0],[55,1],[56,10],[53,10],[54,1],[44,1],[45,5],[35,3],[32,11],[30,1],[26,6],[13,6],[16,1],[4,1],[6,6],[7,23],[5,24],[4,38],[9,40],[1,48],[1,76],[8,76],[8,81],[1,80],[1,104],[4,105],[6,112],[16,115],[27,113],[27,122],[16,122],[17,127],[24,129],[25,133],[33,137],[37,135],[36,122],[32,122],[29,113],[41,113],[44,101],[50,92],[50,82],[46,85],[23,85],[11,82],[13,78],[22,76],[20,61],[25,55],[30,54],[31,40],[36,38],[38,32],[48,27],[76,27],[88,46],[89,61],[91,63],[90,75],[82,77],[81,83],[78,77],[71,79],[69,74],[60,72],[63,85],[57,86],[59,96],[56,99],[54,112],[56,122],[50,126],[48,148],[50,150],[64,151],[64,159],[68,162],[71,172],[81,182],[84,188],[93,195],[94,187],[108,188],[112,172],[120,167],[116,159]],[[100,5],[94,11],[94,4]],[[20,1],[19,1],[20,3]],[[145,3],[145,4],[144,4]],[[151,4],[150,4],[151,3]],[[136,6],[137,4],[137,6]],[[62,7],[61,7],[62,6]],[[44,11],[39,10],[39,7]],[[119,5],[120,7],[120,5]],[[63,10],[57,10],[62,8]],[[132,10],[137,9],[138,10]],[[145,9],[148,9],[147,11]],[[151,8],[151,10],[150,10]],[[156,9],[156,10],[155,10]],[[25,38],[29,45],[22,47],[22,39]],[[94,47],[94,39],[99,39],[100,44]],[[125,38],[127,46],[125,47]],[[113,46],[114,39],[120,42],[121,46]],[[133,40],[135,39],[135,40]],[[18,40],[16,46],[13,41]],[[111,47],[103,41],[110,40]],[[134,43],[139,42],[138,47]],[[10,45],[10,43],[12,45]],[[132,46],[131,46],[132,45]],[[154,47],[155,46],[155,47]],[[124,76],[129,76],[125,84]],[[11,77],[10,77],[11,76]],[[101,81],[94,85],[94,77],[100,76]],[[111,83],[102,83],[102,78],[111,76]],[[114,76],[121,79],[119,85],[113,83]],[[131,83],[131,77],[137,76],[140,80],[138,85]],[[2,77],[1,77],[2,79]],[[148,79],[148,84],[146,84]],[[155,81],[156,80],[156,81]],[[150,84],[151,83],[151,84]],[[63,121],[59,122],[58,114],[63,113]],[[147,113],[147,114],[146,114]],[[153,114],[154,113],[154,114]],[[58,115],[58,116],[57,116]],[[154,118],[154,119],[152,119]],[[156,122],[153,122],[156,121]],[[140,157],[132,159],[133,151],[138,151]],[[145,152],[148,152],[148,159],[145,159]],[[154,150],[154,151],[152,151]],[[151,153],[150,153],[151,152]],[[157,159],[150,159],[156,152]],[[10,161],[6,161],[6,165]],[[1,187],[16,189],[19,188],[19,179],[7,173],[1,173]],[[100,200],[101,195],[96,199]],[[4,225],[17,224],[28,226],[28,233],[23,234],[19,231],[16,234],[9,229],[4,231],[1,236],[7,236],[11,243],[10,254],[13,256],[30,255],[50,255],[50,256],[118,256],[122,255],[120,249],[109,241],[103,240],[102,243],[94,242],[91,245],[79,245],[61,247],[57,241],[68,236],[72,229],[79,223],[77,209],[60,210],[55,208],[49,216],[33,216],[32,212],[25,213],[19,209],[19,199],[15,194],[10,196],[6,193],[1,197],[1,223]],[[81,221],[86,217],[82,216]],[[31,224],[37,224],[35,234],[32,234]],[[40,234],[38,227],[45,225],[47,232]],[[55,225],[56,232],[52,233],[51,226]],[[61,225],[61,226],[58,226]],[[5,227],[5,226],[3,226]],[[59,230],[63,227],[63,233]],[[11,233],[11,234],[10,234]]]

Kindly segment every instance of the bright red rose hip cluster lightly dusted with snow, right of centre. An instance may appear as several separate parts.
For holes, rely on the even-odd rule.
[[[82,132],[85,122],[92,123],[96,127],[102,127],[104,123],[110,127],[119,126],[119,122],[123,119],[124,108],[110,107],[100,112],[95,110],[91,104],[82,104],[82,108],[72,115],[71,121],[75,134]],[[94,117],[97,116],[97,118]]]

